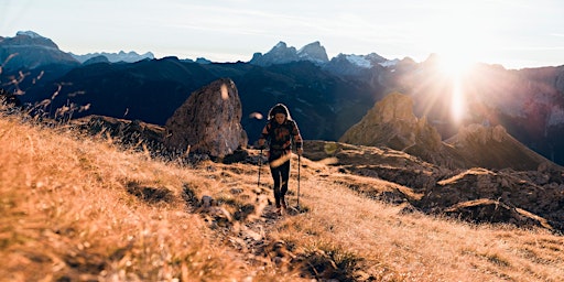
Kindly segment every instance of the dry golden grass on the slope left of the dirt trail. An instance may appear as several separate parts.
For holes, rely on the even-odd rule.
[[[200,217],[186,212],[180,193],[193,172],[73,133],[0,119],[1,279],[247,275],[238,254],[213,242]],[[143,200],[128,192],[131,183],[164,196]]]

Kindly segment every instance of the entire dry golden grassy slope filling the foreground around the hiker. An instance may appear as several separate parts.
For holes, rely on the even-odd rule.
[[[349,188],[390,183],[302,159],[301,206],[272,219],[270,173],[250,164],[178,167],[0,118],[0,278],[10,281],[558,281],[564,238],[404,214]],[[295,205],[296,161],[290,204]],[[223,203],[228,220],[188,206]],[[246,213],[241,213],[245,212]],[[275,253],[281,242],[283,252]],[[274,247],[273,247],[274,246]],[[279,245],[280,247],[280,245]],[[280,248],[278,248],[280,251]],[[330,271],[333,267],[337,270]],[[313,270],[315,269],[315,270]]]

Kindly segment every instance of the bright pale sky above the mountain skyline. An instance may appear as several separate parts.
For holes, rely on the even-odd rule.
[[[507,68],[564,65],[562,0],[0,0],[0,36],[34,31],[75,54],[247,62],[278,42],[329,58],[431,53]]]

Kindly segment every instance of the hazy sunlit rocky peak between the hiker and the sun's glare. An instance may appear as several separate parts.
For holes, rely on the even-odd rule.
[[[413,113],[413,99],[400,93],[392,93],[377,102],[339,141],[395,150],[424,144],[426,150],[438,151],[442,147],[436,129],[425,118],[417,119]]]

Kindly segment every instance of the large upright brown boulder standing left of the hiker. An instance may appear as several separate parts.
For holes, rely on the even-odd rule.
[[[164,144],[214,158],[246,148],[241,100],[231,79],[221,78],[194,91],[166,121]]]

